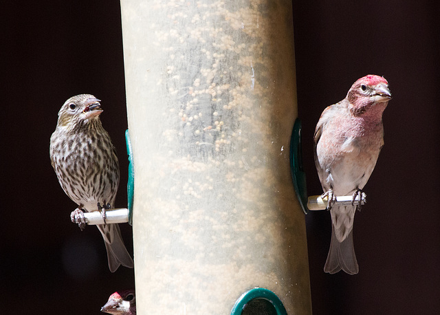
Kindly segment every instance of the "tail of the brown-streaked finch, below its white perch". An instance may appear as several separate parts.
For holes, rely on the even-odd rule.
[[[104,238],[110,271],[115,272],[120,265],[133,268],[133,259],[125,248],[118,224],[102,224],[98,229]]]

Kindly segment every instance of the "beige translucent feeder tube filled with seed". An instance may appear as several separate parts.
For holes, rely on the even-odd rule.
[[[291,1],[122,0],[137,314],[311,314]]]

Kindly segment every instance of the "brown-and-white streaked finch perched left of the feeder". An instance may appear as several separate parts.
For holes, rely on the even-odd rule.
[[[58,112],[58,123],[50,138],[50,159],[63,191],[78,208],[71,215],[81,230],[87,212],[114,206],[119,185],[119,163],[109,133],[102,128],[100,100],[90,94],[73,96]],[[102,206],[101,206],[102,205]],[[104,237],[109,268],[122,264],[133,268],[118,224],[98,225]]]

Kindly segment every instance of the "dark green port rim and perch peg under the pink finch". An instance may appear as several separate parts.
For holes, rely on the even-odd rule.
[[[301,120],[296,118],[294,129],[292,131],[292,138],[290,140],[290,170],[292,171],[292,181],[296,197],[307,215],[309,210],[325,210],[329,202],[326,196],[322,198],[321,195],[314,195],[307,197],[307,182],[303,167],[303,155],[301,146]],[[338,196],[333,206],[347,206],[347,205],[364,205],[365,199],[359,200],[359,196],[353,199],[353,196]]]

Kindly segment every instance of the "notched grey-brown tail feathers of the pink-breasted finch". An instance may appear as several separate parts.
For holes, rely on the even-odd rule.
[[[347,238],[341,243],[336,238],[335,228],[331,228],[331,243],[324,271],[335,274],[344,270],[347,274],[357,274],[359,272],[358,261],[356,260],[355,248],[353,246],[353,230],[349,232]]]

